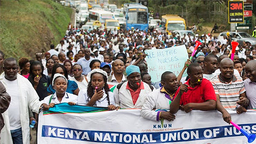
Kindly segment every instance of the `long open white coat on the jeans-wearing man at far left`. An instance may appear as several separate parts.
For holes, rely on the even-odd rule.
[[[4,72],[0,75],[0,81],[6,87],[6,83],[3,80]],[[19,105],[21,113],[21,128],[22,128],[22,140],[23,144],[29,144],[29,107],[33,112],[38,113],[42,102],[39,101],[39,97],[33,88],[32,84],[20,74],[17,74],[17,81],[19,87]],[[8,109],[2,113],[4,117],[4,128],[1,131],[1,144],[12,144],[12,136],[10,134],[10,123],[8,116]]]

